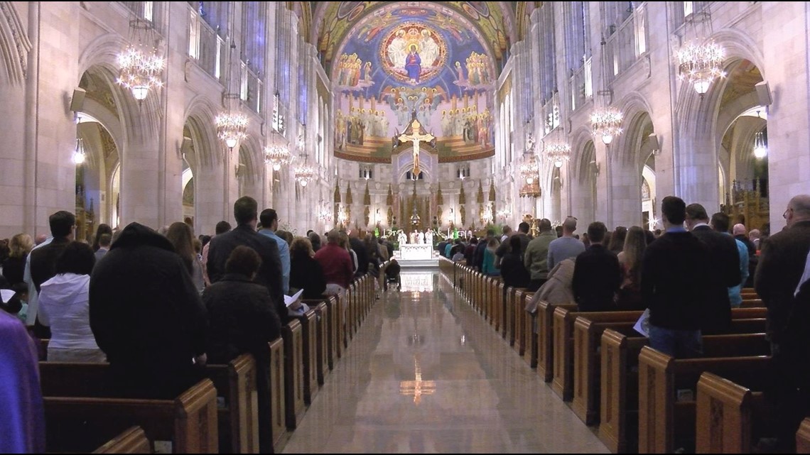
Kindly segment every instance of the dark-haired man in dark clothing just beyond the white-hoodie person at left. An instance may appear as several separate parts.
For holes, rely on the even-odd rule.
[[[70,240],[73,240],[76,217],[69,211],[59,210],[50,215],[48,223],[51,238],[31,250],[24,272],[26,283],[28,283],[28,324],[34,325],[34,334],[39,338],[50,338],[50,331],[36,321],[40,286],[56,274],[53,271],[56,258],[62,254]]]

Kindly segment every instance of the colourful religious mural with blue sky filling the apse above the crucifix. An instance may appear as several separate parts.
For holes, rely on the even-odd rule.
[[[436,136],[440,162],[493,155],[497,73],[479,29],[448,6],[398,2],[368,13],[366,3],[340,2],[337,11],[356,22],[330,63],[335,156],[389,163],[394,137],[413,118]],[[457,3],[479,21],[491,14],[485,2]]]

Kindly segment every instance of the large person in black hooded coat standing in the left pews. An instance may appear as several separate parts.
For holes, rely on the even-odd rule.
[[[175,398],[203,375],[207,312],[172,244],[130,223],[90,277],[90,327],[115,393]]]

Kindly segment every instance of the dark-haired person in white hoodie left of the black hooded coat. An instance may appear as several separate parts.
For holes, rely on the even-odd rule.
[[[96,253],[90,245],[70,242],[57,258],[56,275],[40,287],[39,318],[50,327],[48,360],[104,362],[107,356],[90,329],[90,274]]]

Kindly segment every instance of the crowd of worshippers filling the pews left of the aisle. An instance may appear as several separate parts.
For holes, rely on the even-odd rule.
[[[110,393],[122,398],[175,398],[203,379],[206,364],[252,354],[259,445],[272,452],[267,342],[309,309],[301,300],[342,296],[356,277],[378,277],[393,245],[338,229],[293,236],[249,197],[233,216],[236,225],[223,220],[213,236],[194,236],[181,221],[158,230],[102,224],[91,242],[74,239],[75,215],[60,210],[49,217],[50,236],[0,243],[4,452],[45,449],[41,340],[47,361],[109,363]]]

